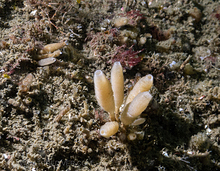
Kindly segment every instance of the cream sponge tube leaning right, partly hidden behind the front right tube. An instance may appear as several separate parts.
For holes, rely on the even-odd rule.
[[[148,74],[142,77],[133,87],[131,92],[129,93],[126,103],[130,103],[140,92],[149,91],[153,85],[153,76]]]

